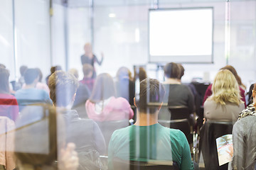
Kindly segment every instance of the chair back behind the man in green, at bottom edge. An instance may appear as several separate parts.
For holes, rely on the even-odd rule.
[[[158,161],[151,160],[149,162],[138,162],[138,161],[129,161],[122,160],[118,158],[113,159],[114,170],[166,170],[174,169],[178,170],[178,164],[172,161]]]

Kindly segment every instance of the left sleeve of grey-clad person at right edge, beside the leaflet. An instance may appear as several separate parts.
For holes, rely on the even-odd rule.
[[[238,120],[237,123],[233,126],[233,159],[232,166],[233,169],[242,169],[245,163],[245,141],[242,127],[242,123]]]

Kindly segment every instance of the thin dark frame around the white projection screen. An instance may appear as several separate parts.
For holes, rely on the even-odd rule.
[[[213,56],[214,56],[214,50],[213,50],[213,38],[214,38],[214,7],[213,6],[205,6],[205,7],[185,7],[185,8],[149,8],[149,13],[148,13],[148,57],[149,57],[149,63],[150,64],[164,64],[166,63],[166,61],[152,61],[151,60],[151,55],[150,55],[150,11],[183,11],[183,10],[196,10],[196,9],[211,9],[212,11],[212,42],[211,42],[211,56],[210,56],[210,62],[182,62],[180,61],[176,61],[173,60],[172,58],[174,57],[181,57],[180,56],[164,56],[164,55],[157,55],[154,57],[169,57],[169,62],[177,62],[177,63],[181,63],[181,64],[213,64],[214,60],[213,60]],[[192,55],[183,55],[182,57],[184,57],[184,59],[186,60],[185,57],[191,57]],[[197,55],[198,56],[198,55]],[[204,55],[206,56],[206,55]],[[204,57],[203,56],[203,57]]]

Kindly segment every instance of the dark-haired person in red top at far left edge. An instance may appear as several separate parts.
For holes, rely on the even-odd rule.
[[[11,120],[18,117],[18,102],[10,94],[9,71],[0,67],[0,116],[6,116]]]

